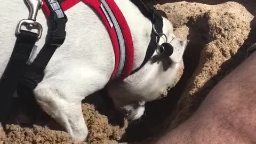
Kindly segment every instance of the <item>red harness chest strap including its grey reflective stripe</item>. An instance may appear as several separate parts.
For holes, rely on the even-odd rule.
[[[43,0],[44,3],[45,1],[50,0]],[[58,2],[51,0],[53,1]],[[131,74],[134,56],[132,36],[124,15],[113,0],[66,0],[60,5],[62,10],[66,11],[79,2],[90,5],[105,23],[115,54],[115,68],[111,79],[117,78],[122,81]],[[49,7],[43,5],[42,8],[46,17],[49,17]]]

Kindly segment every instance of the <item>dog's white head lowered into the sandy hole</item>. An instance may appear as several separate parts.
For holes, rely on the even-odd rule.
[[[145,112],[145,103],[161,98],[180,78],[180,71],[184,68],[182,56],[187,41],[173,34],[173,26],[165,17],[163,17],[163,34],[167,39],[160,38],[158,44],[164,42],[171,44],[173,53],[169,57],[161,57],[155,51],[146,65],[136,73],[123,82],[113,82],[108,85],[108,93],[115,107],[128,119],[139,119]]]

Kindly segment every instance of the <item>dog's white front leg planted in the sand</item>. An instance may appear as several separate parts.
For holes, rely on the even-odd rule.
[[[86,139],[88,130],[84,121],[81,100],[77,95],[66,95],[65,91],[54,86],[39,85],[34,91],[39,106],[59,124],[65,127],[70,136],[77,140]]]

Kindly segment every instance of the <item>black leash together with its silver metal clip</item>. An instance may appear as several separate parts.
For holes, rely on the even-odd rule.
[[[42,35],[42,26],[36,22],[36,15],[41,7],[41,1],[27,0],[30,8],[28,19],[23,19],[18,23],[16,29],[16,42],[10,57],[10,60],[5,68],[5,71],[0,79],[0,122],[5,123],[10,111],[10,105],[13,100],[13,94],[17,89],[21,77],[26,71],[26,62],[29,59],[30,53],[38,39]],[[22,30],[21,27],[37,29],[37,33]]]

